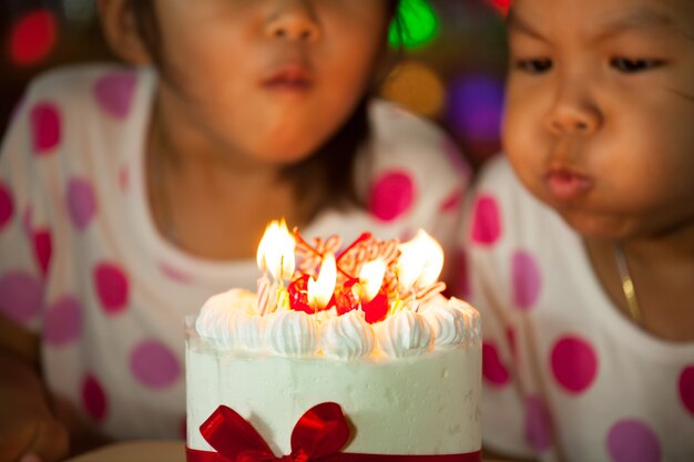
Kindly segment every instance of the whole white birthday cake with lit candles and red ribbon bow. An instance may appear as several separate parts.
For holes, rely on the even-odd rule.
[[[343,248],[274,222],[257,292],[186,319],[188,461],[480,461],[479,315],[442,263],[423,232]]]

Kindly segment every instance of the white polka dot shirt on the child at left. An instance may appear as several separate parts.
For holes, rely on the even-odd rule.
[[[208,261],[163,239],[146,201],[156,75],[89,65],[39,78],[0,154],[0,310],[42,338],[52,391],[116,439],[185,431],[183,319],[213,294],[255,288],[255,261]],[[304,234],[425,228],[448,254],[467,166],[431,123],[376,101],[360,154],[368,209],[326,211]]]

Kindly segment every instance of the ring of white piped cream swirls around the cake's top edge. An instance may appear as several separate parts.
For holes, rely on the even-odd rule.
[[[232,289],[212,297],[195,322],[197,333],[228,351],[337,359],[402,358],[480,341],[478,314],[462,300],[439,296],[369,324],[361,310],[316,315],[282,309],[263,316],[256,295]]]

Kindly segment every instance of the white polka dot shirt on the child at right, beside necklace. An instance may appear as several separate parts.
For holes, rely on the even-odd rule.
[[[483,322],[483,438],[541,461],[694,460],[694,345],[623,317],[581,238],[499,157],[471,195],[467,297]],[[463,273],[465,274],[465,273]]]

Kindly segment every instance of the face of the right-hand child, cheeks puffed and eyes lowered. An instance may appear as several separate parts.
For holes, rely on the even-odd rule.
[[[694,2],[517,0],[503,141],[589,237],[694,219]]]

